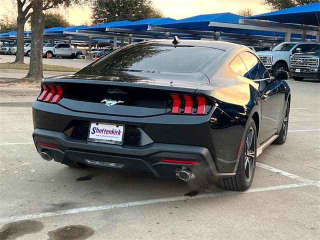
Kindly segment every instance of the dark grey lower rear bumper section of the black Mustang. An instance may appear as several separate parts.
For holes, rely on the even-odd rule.
[[[210,151],[203,146],[150,143],[141,147],[129,147],[73,139],[63,132],[39,128],[34,129],[33,140],[39,153],[47,150],[55,161],[61,163],[77,161],[96,165],[90,163],[90,160],[118,163],[113,164],[113,167],[135,172],[151,172],[157,177],[167,178],[175,178],[175,170],[181,166],[190,168],[198,178],[227,177],[235,174],[218,172]],[[42,146],[36,144],[37,142],[53,144],[58,148]],[[199,164],[162,162],[161,158],[191,160]]]

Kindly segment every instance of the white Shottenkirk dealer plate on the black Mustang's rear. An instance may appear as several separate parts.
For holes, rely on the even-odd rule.
[[[122,144],[124,125],[105,122],[90,122],[88,141]]]

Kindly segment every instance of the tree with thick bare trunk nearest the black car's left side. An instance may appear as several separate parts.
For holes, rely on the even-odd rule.
[[[31,55],[29,72],[24,79],[36,81],[43,78],[42,48],[44,29],[44,10],[72,4],[83,4],[87,0],[30,0],[33,13],[31,16]]]

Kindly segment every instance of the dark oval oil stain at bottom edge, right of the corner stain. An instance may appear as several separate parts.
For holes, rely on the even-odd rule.
[[[91,227],[84,225],[68,225],[48,232],[48,240],[84,240],[94,234]]]

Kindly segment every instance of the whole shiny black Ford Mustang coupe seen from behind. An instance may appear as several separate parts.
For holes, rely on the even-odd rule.
[[[46,160],[158,177],[218,177],[245,190],[258,154],[286,139],[288,75],[221,41],[151,40],[45,78],[33,140]]]

